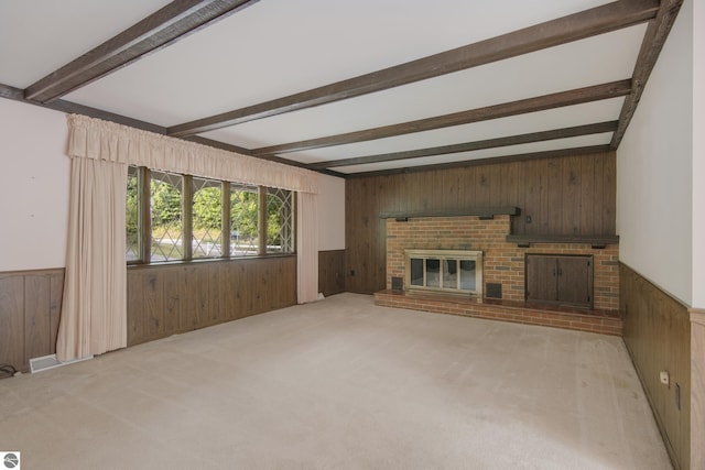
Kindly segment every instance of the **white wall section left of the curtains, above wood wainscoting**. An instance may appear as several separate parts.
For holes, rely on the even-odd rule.
[[[66,135],[64,113],[0,99],[0,272],[65,265]]]

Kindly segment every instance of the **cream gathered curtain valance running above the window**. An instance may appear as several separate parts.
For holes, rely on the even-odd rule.
[[[80,114],[68,116],[68,155],[164,172],[318,193],[318,174]]]

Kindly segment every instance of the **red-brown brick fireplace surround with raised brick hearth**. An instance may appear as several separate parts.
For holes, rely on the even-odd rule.
[[[403,306],[429,311],[442,311],[495,318],[497,309],[509,311],[510,321],[560,326],[587,331],[621,334],[619,320],[619,248],[606,244],[593,248],[590,243],[531,243],[521,247],[507,241],[511,233],[511,216],[494,217],[414,217],[387,219],[387,289],[376,294],[380,305]],[[392,278],[405,275],[405,250],[479,250],[484,252],[482,282],[491,285],[490,297],[501,286],[501,297],[458,299],[442,294],[433,296],[405,295],[392,291]],[[556,306],[550,314],[540,313],[525,304],[525,260],[527,254],[590,255],[593,262],[592,309],[579,309],[565,317]],[[403,305],[402,305],[403,304]],[[487,309],[491,311],[485,311]],[[565,309],[564,309],[565,310]],[[549,315],[545,319],[542,316]],[[500,315],[501,316],[501,315]],[[551,324],[553,321],[553,324]]]

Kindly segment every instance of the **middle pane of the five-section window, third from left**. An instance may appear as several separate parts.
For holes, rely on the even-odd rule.
[[[223,184],[193,178],[193,258],[223,256]]]

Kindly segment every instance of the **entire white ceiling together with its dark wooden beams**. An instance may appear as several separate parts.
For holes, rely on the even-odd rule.
[[[0,96],[345,176],[614,150],[681,2],[2,1]],[[126,30],[152,44],[161,33],[140,21],[166,24],[184,4],[182,23],[217,13],[97,77],[97,62],[76,61],[98,46],[106,62],[135,51],[138,41],[111,42]],[[545,42],[520,32],[545,22],[556,32]],[[514,37],[529,48],[503,53]],[[475,56],[490,58],[440,73],[446,59]],[[45,95],[65,65],[77,81]],[[369,86],[356,80],[390,67]],[[292,95],[281,109],[268,105]],[[213,118],[234,111],[237,122]]]

